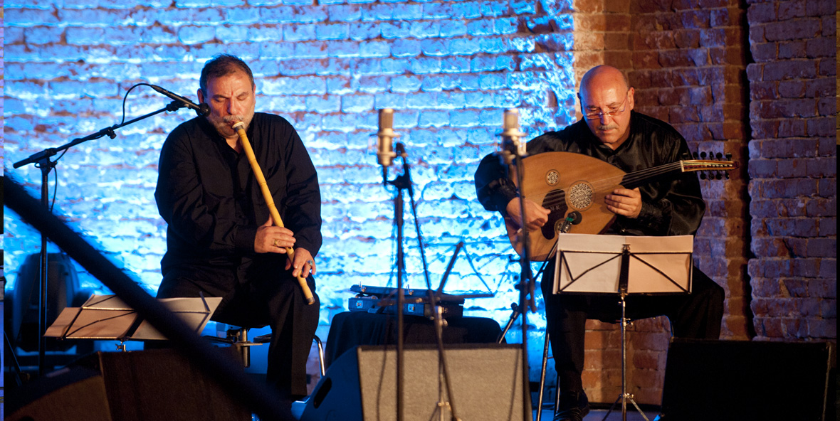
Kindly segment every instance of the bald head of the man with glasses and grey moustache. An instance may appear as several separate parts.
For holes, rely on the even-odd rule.
[[[580,109],[592,134],[610,148],[618,148],[630,135],[633,88],[621,70],[610,65],[593,67],[580,80]]]

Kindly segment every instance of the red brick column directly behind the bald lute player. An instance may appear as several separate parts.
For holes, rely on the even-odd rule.
[[[746,11],[738,2],[575,2],[575,74],[594,65],[627,72],[636,109],[674,125],[697,152],[732,153],[748,142]],[[745,167],[745,165],[743,165]],[[745,171],[704,180],[708,209],[698,231],[698,266],[727,291],[722,337],[748,338],[748,195]],[[628,387],[640,403],[659,403],[670,337],[664,317],[638,320],[628,338]],[[621,387],[617,325],[587,324],[584,387],[612,402]]]

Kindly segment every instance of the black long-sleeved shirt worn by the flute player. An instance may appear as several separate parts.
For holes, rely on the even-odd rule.
[[[318,254],[321,194],[301,138],[283,117],[257,112],[247,135],[284,226]],[[285,259],[254,251],[257,227],[269,219],[245,153],[237,153],[203,117],[170,133],[160,154],[155,199],[168,225],[164,276],[173,268],[233,268],[250,259]]]

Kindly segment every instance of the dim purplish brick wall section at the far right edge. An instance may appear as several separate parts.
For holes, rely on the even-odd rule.
[[[837,340],[836,13],[834,2],[748,10],[748,268],[759,340]]]

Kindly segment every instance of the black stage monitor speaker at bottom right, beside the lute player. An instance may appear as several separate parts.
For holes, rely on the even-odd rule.
[[[823,420],[827,342],[674,340],[662,393],[664,420]]]

